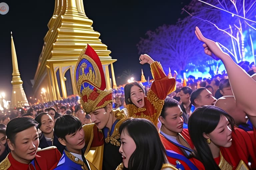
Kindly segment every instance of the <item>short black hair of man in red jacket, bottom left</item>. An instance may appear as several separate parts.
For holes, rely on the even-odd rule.
[[[6,126],[6,136],[12,143],[15,141],[16,134],[30,127],[37,127],[38,123],[29,117],[19,117],[12,119]]]

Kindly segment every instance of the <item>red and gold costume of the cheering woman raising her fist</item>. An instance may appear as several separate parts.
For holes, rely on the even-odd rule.
[[[151,73],[154,78],[150,90],[145,97],[145,105],[143,108],[130,104],[126,108],[129,117],[145,118],[150,120],[157,127],[158,117],[164,105],[164,99],[168,94],[176,88],[175,78],[168,78],[158,61],[150,64]]]

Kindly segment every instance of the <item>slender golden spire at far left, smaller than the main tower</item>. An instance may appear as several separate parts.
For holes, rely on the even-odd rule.
[[[23,81],[20,78],[16,50],[11,33],[11,49],[12,49],[12,97],[11,107],[29,106],[26,94],[22,87]]]

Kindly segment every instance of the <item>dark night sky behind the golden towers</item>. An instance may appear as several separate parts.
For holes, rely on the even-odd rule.
[[[12,61],[11,34],[15,43],[18,66],[27,98],[31,94],[30,79],[34,78],[38,58],[43,47],[47,24],[53,15],[55,0],[0,0],[9,5],[9,12],[0,15],[0,92],[10,100]],[[151,76],[148,65],[139,64],[136,44],[148,30],[163,24],[175,24],[181,17],[181,9],[190,0],[84,0],[87,17],[92,27],[111,50],[115,75],[130,69],[137,80],[141,68],[146,77]],[[157,56],[152,56],[156,59]]]

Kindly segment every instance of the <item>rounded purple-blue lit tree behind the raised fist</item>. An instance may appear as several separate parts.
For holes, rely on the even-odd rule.
[[[140,38],[137,44],[139,53],[148,53],[157,58],[167,70],[181,71],[189,63],[202,64],[210,57],[202,57],[202,43],[198,41],[186,21],[176,25],[163,25],[155,31],[148,31],[146,38]],[[202,62],[203,61],[203,62]]]

